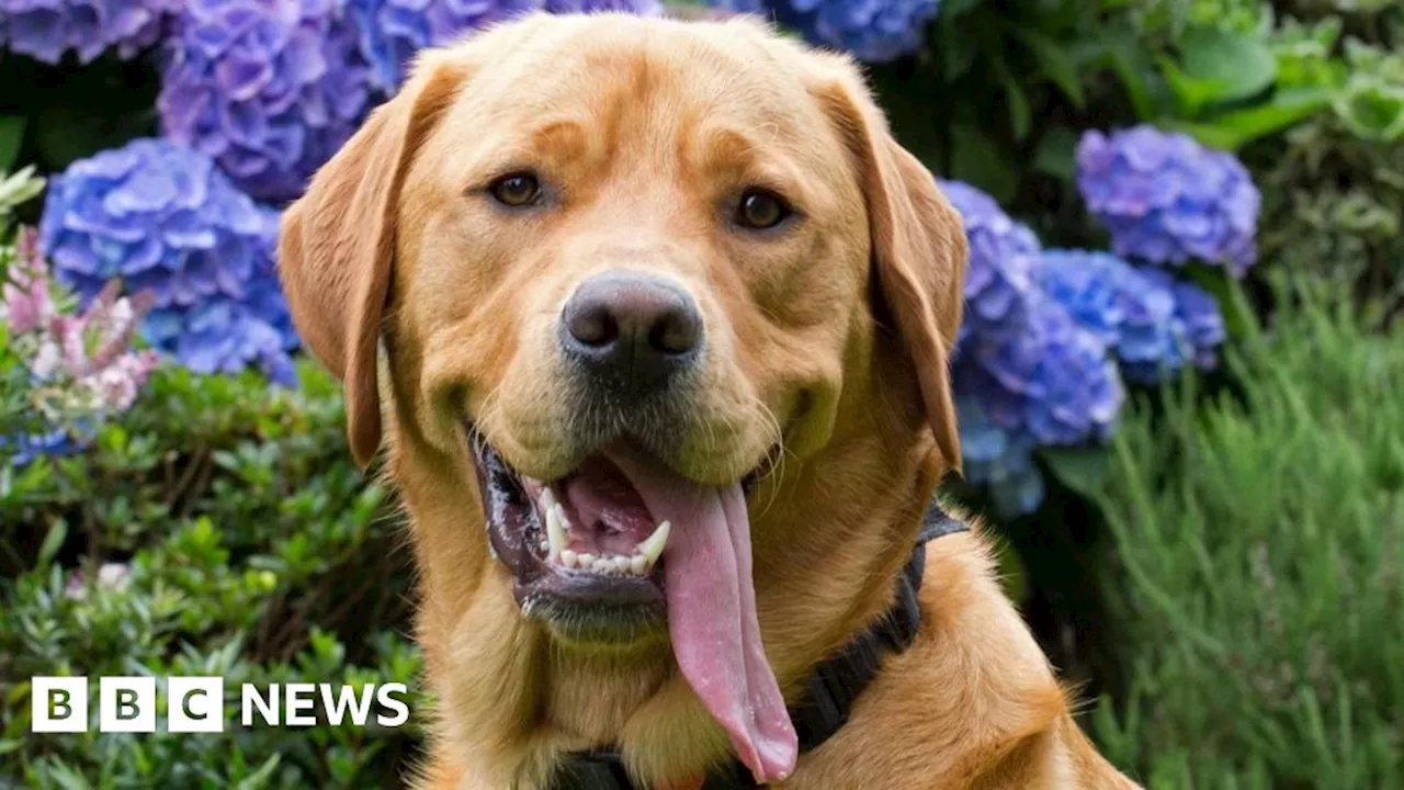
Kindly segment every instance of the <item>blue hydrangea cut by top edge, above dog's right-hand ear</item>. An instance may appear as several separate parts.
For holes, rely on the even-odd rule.
[[[812,44],[885,63],[927,42],[938,0],[710,0],[712,6],[761,14],[799,31]]]

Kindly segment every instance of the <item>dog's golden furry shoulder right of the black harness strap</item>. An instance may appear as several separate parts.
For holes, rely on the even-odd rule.
[[[963,514],[958,516],[965,519]],[[921,630],[889,656],[803,787],[1134,787],[1082,735],[1070,699],[1004,593],[993,536],[927,544]]]

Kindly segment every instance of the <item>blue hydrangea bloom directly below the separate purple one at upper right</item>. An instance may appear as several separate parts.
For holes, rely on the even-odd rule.
[[[1038,280],[1053,301],[1116,351],[1127,378],[1146,382],[1147,373],[1184,365],[1175,297],[1147,273],[1109,253],[1045,250]]]

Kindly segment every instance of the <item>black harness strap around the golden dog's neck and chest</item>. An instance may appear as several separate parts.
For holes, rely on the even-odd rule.
[[[889,652],[903,652],[921,627],[917,592],[927,569],[927,541],[951,533],[967,531],[963,522],[948,516],[935,499],[927,506],[917,533],[911,558],[897,576],[897,596],[892,609],[847,648],[820,663],[809,679],[803,701],[789,710],[800,753],[819,748],[848,723],[858,694],[878,675]],[[549,784],[550,790],[636,790],[615,751],[574,752],[566,756]],[[702,790],[743,790],[760,787],[740,760],[708,775]]]

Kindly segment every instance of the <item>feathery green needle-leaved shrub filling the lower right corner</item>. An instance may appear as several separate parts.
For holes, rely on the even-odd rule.
[[[1098,500],[1130,685],[1097,730],[1150,787],[1398,787],[1404,333],[1307,301],[1122,427]]]

